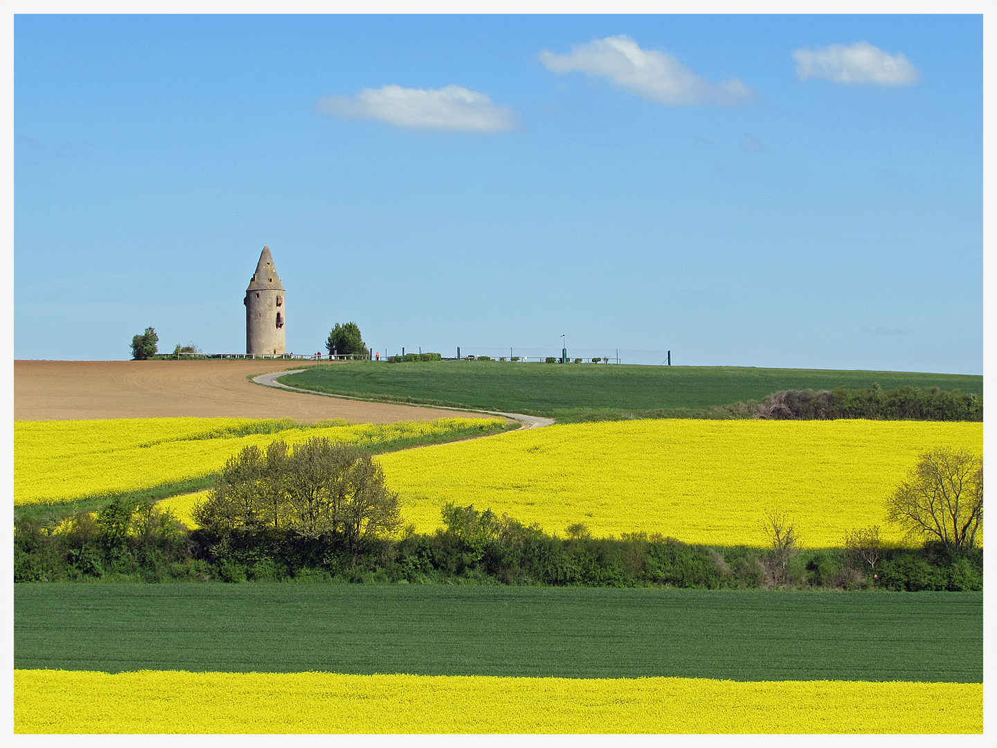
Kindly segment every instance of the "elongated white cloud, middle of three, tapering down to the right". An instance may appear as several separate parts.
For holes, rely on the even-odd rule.
[[[755,100],[755,92],[737,78],[710,83],[667,52],[643,50],[628,36],[576,44],[567,55],[543,50],[540,62],[554,73],[581,72],[608,78],[622,89],[658,104],[726,105]]]

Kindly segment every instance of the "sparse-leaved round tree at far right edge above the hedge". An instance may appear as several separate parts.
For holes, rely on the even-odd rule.
[[[983,459],[945,448],[921,455],[887,501],[886,517],[908,538],[953,552],[974,548],[983,528]]]

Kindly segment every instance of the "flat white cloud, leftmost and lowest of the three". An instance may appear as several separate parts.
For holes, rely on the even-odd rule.
[[[315,108],[332,117],[380,120],[422,130],[498,133],[515,127],[515,118],[508,109],[494,104],[485,94],[460,86],[364,89],[352,99],[345,96],[320,99]]]

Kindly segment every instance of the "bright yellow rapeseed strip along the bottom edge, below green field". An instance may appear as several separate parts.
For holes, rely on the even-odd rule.
[[[14,671],[18,733],[979,733],[981,683]]]

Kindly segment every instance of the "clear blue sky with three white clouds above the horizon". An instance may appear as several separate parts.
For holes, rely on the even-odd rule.
[[[243,351],[267,244],[295,353],[354,320],[982,373],[982,49],[979,16],[19,16],[15,357]]]

